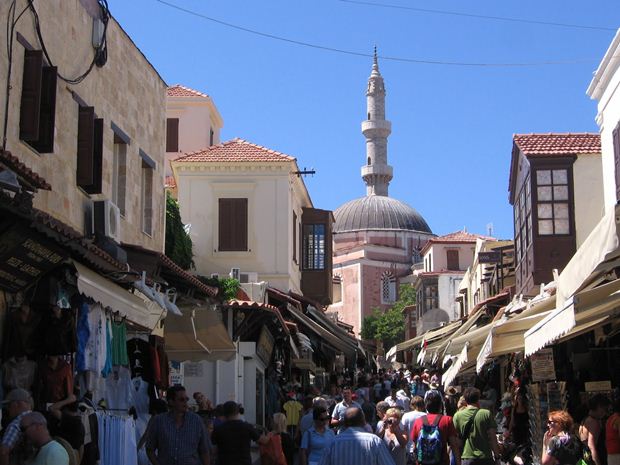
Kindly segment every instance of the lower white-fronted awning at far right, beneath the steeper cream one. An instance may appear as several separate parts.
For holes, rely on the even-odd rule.
[[[581,291],[525,333],[525,355],[532,355],[563,336],[575,337],[586,327],[593,328],[594,321],[618,315],[620,279]],[[604,320],[598,324],[604,324]]]

